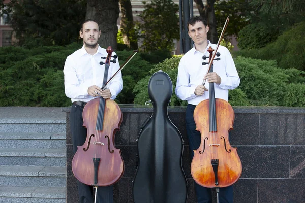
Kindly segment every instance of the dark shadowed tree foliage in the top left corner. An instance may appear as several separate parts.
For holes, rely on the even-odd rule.
[[[11,26],[19,45],[68,45],[79,41],[79,25],[85,18],[85,0],[11,0]]]

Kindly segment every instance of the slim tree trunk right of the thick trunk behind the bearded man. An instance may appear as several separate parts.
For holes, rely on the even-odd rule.
[[[132,49],[138,49],[138,42],[135,35],[135,27],[132,16],[130,0],[119,0],[121,10],[120,31],[123,35],[124,44]]]

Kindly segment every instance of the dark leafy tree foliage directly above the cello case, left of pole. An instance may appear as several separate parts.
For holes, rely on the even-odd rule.
[[[172,0],[152,0],[144,3],[144,11],[139,14],[142,22],[137,22],[141,48],[145,52],[172,50],[174,39],[179,39],[178,5]]]

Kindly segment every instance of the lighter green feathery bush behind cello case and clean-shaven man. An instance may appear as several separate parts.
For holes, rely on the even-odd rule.
[[[162,70],[166,72],[173,83],[173,95],[169,105],[186,105],[175,95],[178,64],[181,56],[164,60],[154,65],[150,76],[141,79],[134,88],[135,104],[144,104],[149,100],[148,81],[152,74]],[[304,104],[305,84],[300,83],[301,71],[296,69],[283,70],[277,66],[276,61],[262,61],[252,58],[237,57],[234,59],[240,77],[240,85],[234,90],[229,90],[229,103],[232,106],[300,106]],[[293,78],[296,78],[297,83]],[[295,86],[298,93],[294,95]],[[289,97],[291,98],[289,100]]]

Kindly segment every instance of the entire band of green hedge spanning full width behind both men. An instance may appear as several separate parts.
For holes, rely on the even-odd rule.
[[[24,49],[0,48],[0,106],[70,106],[71,100],[64,92],[63,68],[66,57],[81,47],[36,47]],[[19,54],[21,53],[21,54]],[[132,51],[116,51],[120,65]],[[122,70],[123,90],[117,103],[144,104],[149,100],[148,81],[152,74],[162,70],[173,83],[170,105],[186,105],[175,95],[178,64],[181,56],[174,56],[162,63],[151,64],[138,53]],[[232,106],[293,106],[304,107],[304,72],[280,69],[275,60],[262,61],[245,57],[234,59],[241,82],[229,91]]]

